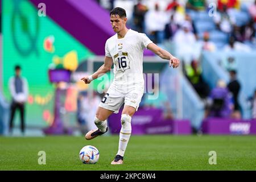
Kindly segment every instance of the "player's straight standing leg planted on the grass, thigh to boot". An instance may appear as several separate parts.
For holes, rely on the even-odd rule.
[[[118,152],[111,164],[123,163],[123,156],[125,155],[125,150],[131,136],[131,117],[135,111],[136,109],[133,106],[125,105],[125,107],[123,107],[121,116],[122,127],[119,133]]]

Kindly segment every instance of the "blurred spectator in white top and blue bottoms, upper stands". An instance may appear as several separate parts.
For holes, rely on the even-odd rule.
[[[161,43],[164,39],[164,27],[166,26],[166,14],[159,10],[158,3],[155,4],[155,9],[150,10],[145,15],[146,31],[148,36],[152,38],[154,43]]]

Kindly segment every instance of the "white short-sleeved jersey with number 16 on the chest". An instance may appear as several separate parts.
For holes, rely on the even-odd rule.
[[[105,56],[114,63],[113,85],[118,88],[143,84],[143,49],[152,43],[145,34],[129,29],[124,38],[117,34],[106,41]]]

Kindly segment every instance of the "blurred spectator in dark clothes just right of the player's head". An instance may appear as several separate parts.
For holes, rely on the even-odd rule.
[[[138,32],[144,32],[144,16],[148,11],[147,6],[143,5],[141,0],[133,7],[133,22]]]

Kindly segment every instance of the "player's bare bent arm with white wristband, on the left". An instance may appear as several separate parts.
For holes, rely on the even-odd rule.
[[[85,84],[89,84],[92,80],[104,75],[106,72],[109,72],[113,64],[112,57],[105,56],[104,64],[98,68],[98,70],[93,73],[93,75],[86,76],[81,78],[82,81],[85,82]]]

